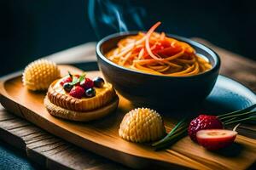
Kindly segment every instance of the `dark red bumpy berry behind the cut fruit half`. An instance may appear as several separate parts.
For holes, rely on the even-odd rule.
[[[193,141],[197,142],[196,133],[202,129],[221,129],[223,128],[222,122],[217,116],[200,115],[193,119],[189,124],[189,137]]]

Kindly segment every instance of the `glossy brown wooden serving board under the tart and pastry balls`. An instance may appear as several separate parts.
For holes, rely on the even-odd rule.
[[[61,73],[80,72],[61,65]],[[101,75],[99,71],[87,72],[89,77]],[[188,167],[195,169],[245,169],[256,161],[256,140],[238,135],[236,144],[225,152],[210,152],[188,137],[173,144],[169,150],[154,151],[148,144],[127,142],[118,135],[119,123],[126,112],[134,108],[131,102],[119,95],[119,108],[101,120],[94,122],[70,122],[49,115],[43,105],[45,93],[34,93],[22,86],[16,76],[0,83],[0,101],[9,111],[44,128],[49,133],[73,144],[118,161],[128,167]],[[175,120],[164,117],[166,129]]]

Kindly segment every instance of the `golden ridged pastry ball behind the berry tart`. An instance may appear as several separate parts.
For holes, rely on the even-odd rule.
[[[26,66],[22,82],[30,90],[46,90],[50,83],[59,77],[61,77],[61,73],[54,62],[38,59]]]

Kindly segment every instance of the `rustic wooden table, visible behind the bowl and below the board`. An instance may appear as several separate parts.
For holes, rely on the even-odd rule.
[[[256,93],[256,62],[230,51],[218,48],[200,38],[195,41],[206,44],[220,55],[220,74],[241,82]],[[95,61],[95,43],[87,43],[48,57],[57,63]],[[256,127],[250,130],[256,132]],[[118,163],[80,149],[44,130],[9,114],[0,105],[0,139],[24,151],[26,156],[43,168],[49,169],[128,169]]]

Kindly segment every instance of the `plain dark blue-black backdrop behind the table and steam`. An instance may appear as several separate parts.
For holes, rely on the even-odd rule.
[[[119,4],[123,10],[128,9],[126,1],[111,2]],[[131,0],[129,3],[146,11],[142,17],[145,29],[160,20],[159,31],[202,37],[237,54],[256,59],[256,6],[253,1]],[[97,41],[88,19],[87,4],[86,0],[1,1],[0,76],[23,69],[39,57]],[[100,10],[96,13],[99,14]],[[125,17],[128,28],[137,30],[131,17]],[[100,28],[100,37],[114,31],[104,29],[104,26]]]

